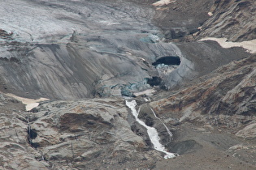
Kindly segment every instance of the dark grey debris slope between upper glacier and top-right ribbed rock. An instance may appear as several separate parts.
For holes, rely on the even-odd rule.
[[[165,6],[155,6],[154,23],[161,28],[167,41],[187,40],[188,35],[198,32],[210,18],[207,13],[212,5],[209,0],[171,1]]]

